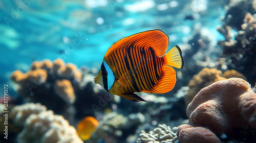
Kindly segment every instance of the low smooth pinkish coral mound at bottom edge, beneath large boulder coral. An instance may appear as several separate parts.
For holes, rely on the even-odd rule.
[[[203,127],[193,127],[187,124],[178,127],[177,136],[182,143],[220,143],[220,139],[209,129]]]

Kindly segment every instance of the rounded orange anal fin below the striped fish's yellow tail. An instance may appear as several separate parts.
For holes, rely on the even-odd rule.
[[[173,67],[165,65],[158,83],[151,90],[153,93],[166,93],[176,85],[176,72]]]

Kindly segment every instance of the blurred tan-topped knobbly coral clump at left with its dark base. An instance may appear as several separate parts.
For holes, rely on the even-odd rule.
[[[76,65],[65,65],[62,59],[34,61],[27,73],[15,70],[11,75],[11,80],[18,85],[17,92],[22,97],[20,100],[40,102],[67,118],[72,118],[71,114],[74,114],[70,110],[73,109],[75,92],[79,91],[81,79]],[[55,104],[55,101],[62,106]]]

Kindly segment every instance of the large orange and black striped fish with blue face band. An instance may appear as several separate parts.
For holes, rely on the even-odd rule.
[[[168,92],[177,80],[173,67],[184,65],[180,47],[165,54],[168,45],[168,36],[160,30],[122,38],[106,52],[94,82],[132,101],[145,101],[134,92]]]

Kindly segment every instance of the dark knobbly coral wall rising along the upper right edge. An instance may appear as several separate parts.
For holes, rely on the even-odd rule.
[[[223,65],[246,75],[252,85],[256,81],[255,13],[256,1],[230,1],[222,26],[217,27],[225,37],[225,40],[218,41],[225,58]]]

